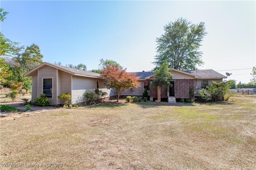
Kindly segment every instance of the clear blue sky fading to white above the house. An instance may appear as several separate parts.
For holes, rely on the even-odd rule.
[[[255,1],[1,0],[0,6],[9,12],[1,32],[21,45],[38,45],[44,62],[83,63],[91,70],[103,58],[128,72],[148,71],[164,25],[182,17],[206,25],[205,64],[198,69],[248,83],[256,65]]]

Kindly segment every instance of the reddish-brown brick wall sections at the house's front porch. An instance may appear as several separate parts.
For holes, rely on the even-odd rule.
[[[194,79],[176,79],[175,81],[175,97],[189,99],[189,89],[194,87]],[[157,88],[150,88],[150,97],[157,98]],[[167,88],[161,88],[161,98],[167,97]]]

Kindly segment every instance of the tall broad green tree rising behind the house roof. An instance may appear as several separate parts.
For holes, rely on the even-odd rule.
[[[204,22],[193,24],[179,18],[164,26],[165,33],[156,39],[157,47],[153,63],[160,66],[165,61],[170,68],[195,70],[203,63],[200,46],[207,34]]]

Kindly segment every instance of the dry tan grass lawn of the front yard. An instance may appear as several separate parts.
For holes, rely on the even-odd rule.
[[[255,169],[256,98],[234,100],[100,104],[1,118],[0,169]]]

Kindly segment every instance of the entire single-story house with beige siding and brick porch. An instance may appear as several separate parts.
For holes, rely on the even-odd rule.
[[[181,98],[190,98],[189,89],[194,88],[195,92],[206,86],[210,86],[212,81],[221,82],[226,76],[214,70],[172,70],[172,79],[170,83],[172,87],[162,87],[161,98],[176,101]],[[142,96],[144,88],[148,90],[150,100],[156,100],[157,88],[150,88],[150,81],[155,79],[154,72],[131,72],[139,76],[140,87],[136,89],[126,89],[122,95]],[[51,105],[63,103],[58,96],[61,93],[71,94],[71,104],[86,102],[84,92],[86,90],[98,88],[107,93],[107,97],[114,94],[104,86],[104,81],[100,78],[100,74],[78,70],[66,66],[60,66],[51,63],[42,63],[33,70],[24,74],[24,76],[32,76],[32,99],[41,94],[46,94],[50,99]]]

